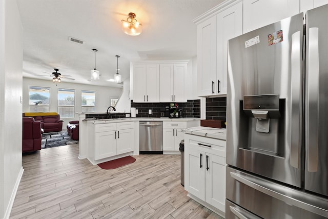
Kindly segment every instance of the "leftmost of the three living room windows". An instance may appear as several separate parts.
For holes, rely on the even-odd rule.
[[[49,112],[50,88],[29,86],[29,112]]]

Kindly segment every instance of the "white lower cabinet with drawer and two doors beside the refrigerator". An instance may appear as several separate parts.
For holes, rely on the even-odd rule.
[[[185,135],[185,189],[191,197],[203,201],[201,204],[209,204],[223,213],[226,201],[225,154],[224,140]]]

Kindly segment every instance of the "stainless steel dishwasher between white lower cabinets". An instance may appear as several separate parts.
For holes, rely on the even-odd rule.
[[[163,153],[163,122],[139,122],[140,153]]]

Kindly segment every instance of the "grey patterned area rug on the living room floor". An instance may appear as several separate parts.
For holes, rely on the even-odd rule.
[[[72,140],[67,131],[48,132],[42,134],[41,149],[73,145],[77,143],[78,141]]]

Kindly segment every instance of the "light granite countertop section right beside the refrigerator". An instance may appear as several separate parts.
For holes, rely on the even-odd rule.
[[[185,133],[187,134],[194,134],[204,137],[212,137],[212,138],[218,138],[221,140],[227,139],[227,129],[222,128],[211,128],[211,127],[203,127],[203,126],[197,126],[192,128],[184,129]]]

